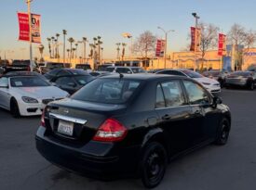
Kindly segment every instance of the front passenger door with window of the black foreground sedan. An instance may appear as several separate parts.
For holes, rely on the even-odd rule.
[[[193,81],[183,81],[190,106],[193,111],[191,145],[196,146],[214,136],[218,126],[219,113],[218,109],[212,108],[212,102],[209,92],[200,84]]]

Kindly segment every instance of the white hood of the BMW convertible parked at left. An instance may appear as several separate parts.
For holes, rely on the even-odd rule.
[[[56,98],[66,97],[67,92],[61,90],[56,86],[41,86],[41,87],[15,87],[13,90],[22,96],[29,96],[34,98]]]

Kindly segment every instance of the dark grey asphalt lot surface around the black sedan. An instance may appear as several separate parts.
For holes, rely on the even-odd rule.
[[[250,190],[256,187],[256,90],[222,90],[231,108],[226,146],[206,146],[168,165],[155,189]],[[0,189],[143,189],[140,180],[100,182],[47,162],[37,153],[34,133],[40,117],[13,119],[0,109]]]

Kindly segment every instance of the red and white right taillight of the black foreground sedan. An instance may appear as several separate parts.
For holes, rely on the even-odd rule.
[[[107,119],[101,124],[101,127],[93,137],[93,140],[101,142],[122,141],[127,133],[127,128],[118,120]]]

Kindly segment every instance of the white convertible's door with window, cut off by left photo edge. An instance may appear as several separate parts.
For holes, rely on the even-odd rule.
[[[0,78],[0,107],[9,108],[11,95],[9,93],[8,78]]]

